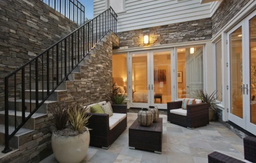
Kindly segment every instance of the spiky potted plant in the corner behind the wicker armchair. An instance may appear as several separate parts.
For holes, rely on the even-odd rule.
[[[211,121],[215,115],[215,111],[218,108],[217,104],[219,102],[216,101],[217,91],[213,91],[212,94],[207,94],[203,90],[199,90],[196,93],[196,99],[202,100],[202,102],[209,103],[209,121]]]

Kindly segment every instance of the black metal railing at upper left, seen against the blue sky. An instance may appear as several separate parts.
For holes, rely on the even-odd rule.
[[[83,25],[85,7],[78,0],[41,0],[71,21]]]

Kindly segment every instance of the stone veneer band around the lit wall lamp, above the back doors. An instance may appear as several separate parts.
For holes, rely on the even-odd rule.
[[[144,34],[149,35],[149,45],[143,44]],[[169,24],[119,32],[120,48],[154,46],[187,41],[208,40],[212,38],[212,19]]]

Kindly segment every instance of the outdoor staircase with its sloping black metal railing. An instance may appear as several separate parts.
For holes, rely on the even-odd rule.
[[[57,103],[66,82],[75,80],[109,32],[117,32],[117,15],[111,7],[5,77],[2,153],[10,152],[10,146],[18,148],[19,136],[36,129],[37,119],[47,115],[49,104]]]

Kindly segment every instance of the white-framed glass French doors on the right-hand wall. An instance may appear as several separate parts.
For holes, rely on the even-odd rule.
[[[228,119],[256,134],[256,11],[228,32]]]

